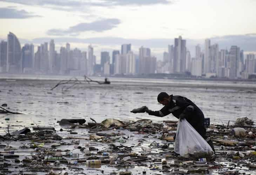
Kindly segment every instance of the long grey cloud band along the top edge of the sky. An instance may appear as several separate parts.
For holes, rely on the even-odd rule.
[[[155,4],[169,4],[169,0],[102,0],[92,2],[91,0],[0,0],[4,2],[19,3],[22,5],[31,6],[43,6],[59,10],[80,10],[83,11],[84,8],[88,6],[101,6],[101,7],[113,7],[113,6],[146,6]]]

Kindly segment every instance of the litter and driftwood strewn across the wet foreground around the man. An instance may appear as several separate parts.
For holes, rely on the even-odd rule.
[[[217,155],[212,161],[204,152],[201,154],[201,149],[193,153],[197,154],[194,157],[174,152],[177,121],[153,123],[148,119],[112,118],[101,123],[92,121],[62,119],[58,131],[54,127],[34,126],[9,133],[8,126],[6,135],[0,136],[0,174],[255,174],[256,171],[256,127],[248,118],[237,119],[234,126],[211,124],[207,128]],[[194,145],[192,149],[197,147]]]

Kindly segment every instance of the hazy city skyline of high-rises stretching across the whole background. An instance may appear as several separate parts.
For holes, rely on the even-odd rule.
[[[100,64],[96,62],[94,48],[88,45],[87,52],[72,49],[70,43],[55,50],[54,40],[38,45],[21,44],[15,34],[9,32],[7,42],[0,45],[0,73],[39,73],[57,75],[149,75],[154,73],[190,74],[196,77],[243,78],[256,75],[255,54],[244,54],[237,45],[230,49],[219,48],[218,43],[205,39],[204,50],[196,45],[195,57],[187,49],[187,41],[179,36],[173,45],[163,52],[163,61],[151,55],[151,49],[141,46],[139,55],[134,54],[131,43],[121,45],[119,50],[102,51]],[[49,50],[48,50],[49,45]],[[245,59],[244,59],[245,57]]]

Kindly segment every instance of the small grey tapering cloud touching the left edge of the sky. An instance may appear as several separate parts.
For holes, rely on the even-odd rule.
[[[1,19],[24,19],[33,17],[41,16],[33,15],[32,13],[26,12],[25,10],[16,10],[14,8],[0,8]]]

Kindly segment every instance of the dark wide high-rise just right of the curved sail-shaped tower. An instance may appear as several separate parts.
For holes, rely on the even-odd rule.
[[[25,44],[22,47],[22,72],[32,73],[34,69],[34,45]]]

